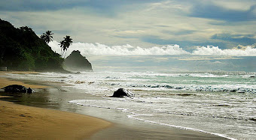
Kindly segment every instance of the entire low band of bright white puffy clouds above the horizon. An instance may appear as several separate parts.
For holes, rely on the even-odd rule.
[[[60,54],[59,43],[54,40],[49,43],[53,51]],[[153,46],[142,48],[140,46],[107,46],[101,43],[73,43],[66,56],[73,50],[79,50],[82,55],[212,55],[212,56],[256,56],[256,48],[246,46],[242,49],[219,49],[218,46],[198,46],[192,53],[180,48],[178,45]],[[181,58],[182,59],[182,58]],[[183,58],[184,60],[186,58]],[[191,59],[191,58],[190,58]],[[192,60],[202,58],[192,58]],[[206,58],[203,58],[206,59]],[[218,58],[219,59],[219,58]]]

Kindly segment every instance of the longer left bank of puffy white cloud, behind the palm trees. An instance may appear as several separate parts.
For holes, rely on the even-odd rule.
[[[55,40],[49,43],[53,51],[60,53],[59,43]],[[139,46],[106,46],[101,43],[73,43],[68,49],[67,55],[73,50],[79,50],[83,55],[184,55],[190,54],[178,45],[153,46],[142,48]]]

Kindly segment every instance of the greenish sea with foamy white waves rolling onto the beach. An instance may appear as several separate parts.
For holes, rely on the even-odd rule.
[[[20,76],[65,82],[98,97],[69,101],[78,106],[113,109],[126,112],[128,119],[229,139],[256,139],[256,73],[82,72]],[[118,88],[126,88],[136,96],[110,97]]]

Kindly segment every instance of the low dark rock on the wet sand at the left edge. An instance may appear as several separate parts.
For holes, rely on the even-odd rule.
[[[33,91],[31,88],[26,88],[23,85],[8,85],[5,88],[2,88],[5,90],[5,92],[12,92],[12,93],[28,93],[32,94],[35,91]]]

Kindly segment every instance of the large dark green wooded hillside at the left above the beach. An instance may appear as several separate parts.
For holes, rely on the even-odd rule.
[[[51,31],[48,33],[52,35]],[[64,59],[47,45],[50,40],[42,40],[32,28],[14,28],[10,22],[0,19],[0,66],[8,70],[64,72]]]

